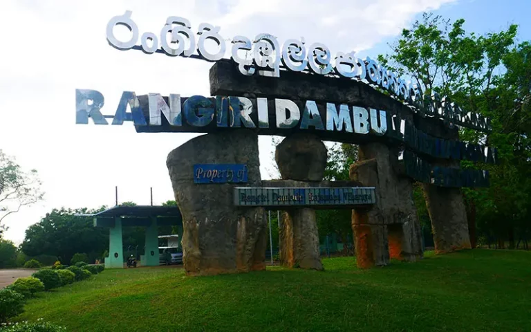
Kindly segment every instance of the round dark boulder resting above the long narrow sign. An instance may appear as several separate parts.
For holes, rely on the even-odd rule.
[[[274,154],[282,178],[297,181],[321,181],[327,157],[322,140],[307,133],[286,138]]]

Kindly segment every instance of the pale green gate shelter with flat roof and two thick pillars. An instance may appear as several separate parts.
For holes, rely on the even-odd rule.
[[[104,257],[105,268],[123,268],[124,253],[122,228],[140,226],[146,229],[144,255],[140,256],[141,266],[158,266],[158,226],[177,226],[178,237],[183,234],[183,217],[176,206],[115,206],[96,214],[94,227],[109,228],[109,257]]]

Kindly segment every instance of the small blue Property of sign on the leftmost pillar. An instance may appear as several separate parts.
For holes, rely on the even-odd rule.
[[[244,164],[194,165],[194,183],[247,183]]]

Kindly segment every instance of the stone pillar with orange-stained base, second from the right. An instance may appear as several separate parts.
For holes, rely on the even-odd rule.
[[[351,180],[376,187],[376,204],[353,211],[358,266],[384,266],[389,257],[407,261],[422,257],[413,183],[400,176],[398,149],[382,143],[360,145],[359,159],[351,165]]]

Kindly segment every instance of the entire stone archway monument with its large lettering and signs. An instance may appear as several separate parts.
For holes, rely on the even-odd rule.
[[[102,113],[102,93],[77,89],[76,123],[109,124],[106,118],[113,118],[112,124],[133,122],[139,133],[206,134],[167,158],[183,214],[187,273],[262,270],[264,211],[279,206],[285,211],[281,260],[287,266],[322,269],[317,208],[353,209],[358,266],[384,266],[390,258],[414,261],[422,257],[415,182],[424,188],[436,251],[470,248],[460,187],[488,186],[489,173],[460,169],[460,160],[497,158],[493,147],[460,142],[458,127],[488,132],[490,119],[423,93],[422,86],[369,57],[333,57],[324,44],[307,47],[299,39],[281,46],[263,33],[253,42],[234,37],[232,57],[224,59],[220,27],[201,24],[196,38],[187,19],[171,16],[159,40],[155,33],[140,35],[131,15],[109,21],[111,46],[216,62],[209,72],[214,97],[124,91],[109,116]],[[130,39],[118,39],[116,25],[129,28]],[[205,47],[207,39],[218,48]],[[286,137],[277,147],[279,181],[261,179],[258,135]],[[359,146],[351,181],[322,181],[322,141]]]

